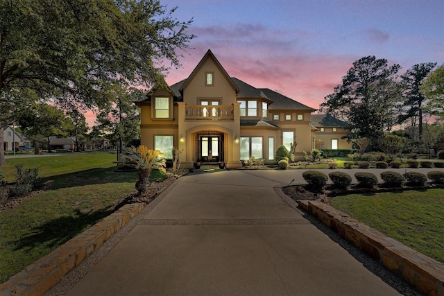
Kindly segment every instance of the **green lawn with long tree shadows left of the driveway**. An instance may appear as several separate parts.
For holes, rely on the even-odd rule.
[[[137,173],[114,172],[114,159],[108,153],[6,159],[0,170],[8,180],[14,180],[15,164],[37,167],[49,189],[0,211],[0,283],[112,214],[135,192]]]

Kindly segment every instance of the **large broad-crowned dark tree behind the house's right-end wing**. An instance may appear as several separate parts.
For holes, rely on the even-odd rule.
[[[350,125],[350,138],[377,139],[384,129],[393,125],[395,97],[399,85],[395,82],[399,64],[388,67],[386,59],[367,56],[353,63],[342,84],[325,96],[321,110]]]

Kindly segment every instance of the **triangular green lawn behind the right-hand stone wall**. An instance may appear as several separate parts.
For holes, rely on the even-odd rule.
[[[444,189],[345,195],[332,206],[444,263]]]

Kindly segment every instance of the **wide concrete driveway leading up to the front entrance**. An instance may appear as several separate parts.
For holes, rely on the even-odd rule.
[[[399,295],[280,198],[297,171],[181,177],[68,295]]]

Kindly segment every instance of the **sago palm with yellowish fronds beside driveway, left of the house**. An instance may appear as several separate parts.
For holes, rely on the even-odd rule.
[[[146,193],[148,179],[153,169],[166,173],[165,159],[162,155],[163,153],[160,150],[148,149],[142,145],[137,148],[128,148],[126,158],[137,168],[138,180],[136,182],[136,189],[139,195]]]

